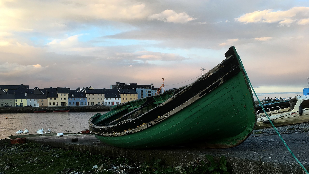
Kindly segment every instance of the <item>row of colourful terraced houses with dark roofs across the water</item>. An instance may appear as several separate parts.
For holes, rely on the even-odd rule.
[[[0,106],[60,107],[60,106],[113,106],[156,94],[153,85],[116,82],[111,89],[93,87],[70,89],[66,87],[30,89],[28,85],[0,85]]]

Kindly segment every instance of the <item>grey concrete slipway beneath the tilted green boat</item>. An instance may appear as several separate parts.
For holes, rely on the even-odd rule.
[[[309,133],[288,133],[281,136],[298,160],[309,169]],[[72,142],[72,139],[77,141]],[[252,134],[237,147],[229,149],[201,149],[182,146],[167,146],[152,149],[124,149],[109,146],[93,134],[66,134],[27,137],[27,141],[65,149],[89,151],[109,157],[124,157],[135,163],[144,160],[162,159],[169,166],[186,166],[210,154],[219,159],[224,155],[236,174],[299,174],[305,173],[295,161],[277,134]]]

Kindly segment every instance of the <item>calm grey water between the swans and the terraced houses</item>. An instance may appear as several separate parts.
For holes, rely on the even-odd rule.
[[[78,133],[89,129],[88,119],[98,112],[45,112],[45,113],[0,113],[0,139],[17,135],[19,129],[28,128],[29,134],[37,134],[38,129],[51,129],[52,133]],[[100,112],[104,114],[106,112]],[[9,117],[5,119],[5,117]],[[20,136],[24,136],[20,134]]]

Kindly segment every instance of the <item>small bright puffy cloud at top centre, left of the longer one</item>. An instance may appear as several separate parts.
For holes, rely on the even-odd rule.
[[[197,18],[190,17],[186,12],[176,13],[173,10],[164,10],[161,13],[153,14],[148,20],[161,20],[163,22],[186,23]]]

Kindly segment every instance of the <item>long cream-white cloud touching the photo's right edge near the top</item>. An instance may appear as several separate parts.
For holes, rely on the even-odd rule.
[[[286,11],[273,11],[266,9],[263,11],[254,11],[246,13],[235,21],[241,23],[278,23],[280,25],[288,25],[292,23],[307,24],[309,17],[309,7],[293,7]]]

